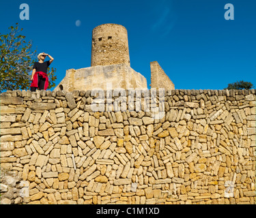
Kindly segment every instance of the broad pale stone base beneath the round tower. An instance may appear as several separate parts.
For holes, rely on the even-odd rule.
[[[58,91],[92,90],[92,89],[147,89],[146,78],[135,72],[130,65],[121,63],[117,65],[86,67],[81,69],[68,69],[66,76],[55,88]],[[111,87],[109,87],[111,86]]]

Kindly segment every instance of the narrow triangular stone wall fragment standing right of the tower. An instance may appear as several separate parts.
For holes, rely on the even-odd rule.
[[[165,74],[162,67],[157,61],[150,62],[151,69],[151,87],[152,88],[165,88],[166,90],[175,89],[173,82]]]

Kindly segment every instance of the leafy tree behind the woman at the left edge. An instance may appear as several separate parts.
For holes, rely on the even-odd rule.
[[[33,63],[38,61],[37,51],[32,50],[32,42],[26,42],[20,35],[18,23],[9,27],[10,33],[0,33],[0,93],[5,90],[29,89]],[[49,87],[55,87],[56,69],[48,69]]]

